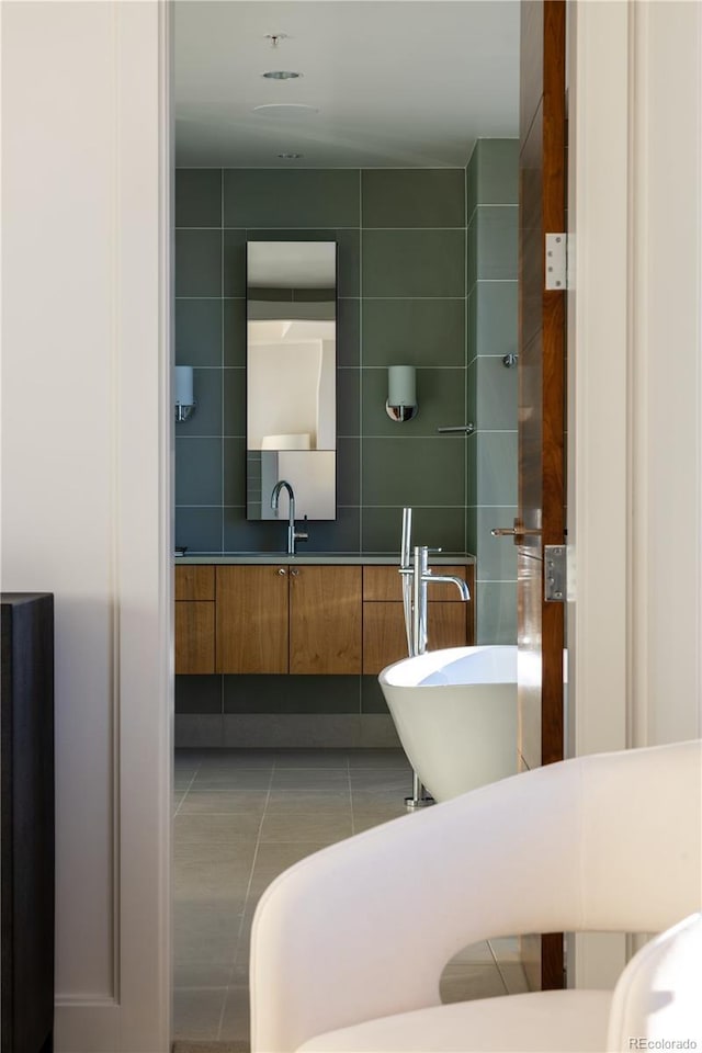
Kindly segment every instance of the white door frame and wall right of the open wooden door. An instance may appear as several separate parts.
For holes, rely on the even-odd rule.
[[[569,4],[568,752],[702,734],[702,5]],[[569,982],[629,944],[578,937]]]

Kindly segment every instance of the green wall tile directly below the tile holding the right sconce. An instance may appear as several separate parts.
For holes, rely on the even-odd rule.
[[[433,439],[365,439],[363,505],[465,505],[465,445]]]

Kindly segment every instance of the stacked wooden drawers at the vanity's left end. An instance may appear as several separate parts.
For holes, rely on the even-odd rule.
[[[215,568],[176,567],[176,672],[215,671]]]

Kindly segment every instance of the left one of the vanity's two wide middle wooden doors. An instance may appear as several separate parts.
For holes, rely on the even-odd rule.
[[[287,570],[217,567],[217,672],[287,672]]]

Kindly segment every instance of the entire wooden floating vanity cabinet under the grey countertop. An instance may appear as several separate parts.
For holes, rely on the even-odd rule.
[[[429,646],[474,641],[472,566],[429,587]],[[177,673],[377,675],[407,656],[397,566],[186,565],[176,568]]]

